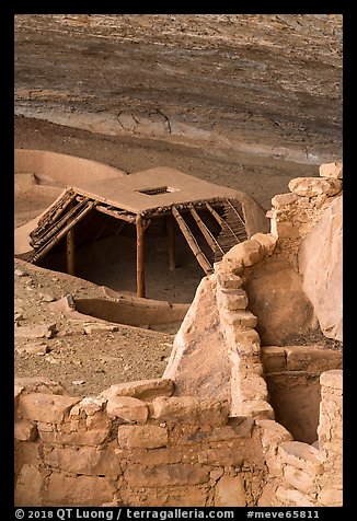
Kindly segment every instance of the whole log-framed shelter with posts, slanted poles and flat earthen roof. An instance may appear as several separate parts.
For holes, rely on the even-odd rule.
[[[174,222],[206,275],[214,271],[212,262],[199,242],[204,241],[212,258],[219,260],[234,244],[247,238],[244,212],[235,190],[174,169],[157,167],[67,187],[31,232],[33,254],[30,262],[38,263],[65,238],[67,271],[74,274],[73,229],[93,211],[111,216],[123,225],[136,227],[138,297],[145,297],[145,233],[156,218],[166,218],[170,269],[174,269]],[[218,234],[212,232],[204,213],[216,222]],[[195,230],[188,221],[195,223]],[[97,236],[95,230],[92,232]]]

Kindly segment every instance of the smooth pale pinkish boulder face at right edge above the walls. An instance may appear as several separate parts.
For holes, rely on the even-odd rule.
[[[299,250],[303,291],[312,302],[323,334],[337,340],[343,339],[342,208],[341,196],[332,201]]]

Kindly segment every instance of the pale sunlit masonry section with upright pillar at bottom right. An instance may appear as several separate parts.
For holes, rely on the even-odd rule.
[[[269,479],[260,506],[343,505],[342,381],[342,370],[326,371],[320,378],[319,440],[313,445],[290,441],[287,437],[272,443],[270,426],[266,421],[260,422],[269,468]]]

